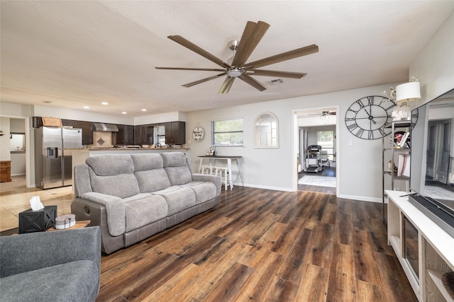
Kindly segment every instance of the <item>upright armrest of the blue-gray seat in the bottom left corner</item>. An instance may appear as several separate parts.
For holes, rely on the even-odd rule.
[[[2,278],[77,260],[92,260],[101,273],[101,228],[2,236],[0,253]]]

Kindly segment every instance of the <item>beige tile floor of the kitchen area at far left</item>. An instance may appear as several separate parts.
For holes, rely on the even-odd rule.
[[[45,206],[57,206],[57,216],[71,213],[71,202],[74,199],[72,187],[41,190],[37,187],[26,187],[23,176],[11,177],[11,182],[0,182],[0,231],[18,228],[19,213],[30,209],[30,198],[39,196]]]

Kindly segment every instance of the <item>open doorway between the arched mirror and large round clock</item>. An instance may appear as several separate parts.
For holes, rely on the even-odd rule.
[[[297,190],[336,194],[337,108],[301,110],[297,115]]]

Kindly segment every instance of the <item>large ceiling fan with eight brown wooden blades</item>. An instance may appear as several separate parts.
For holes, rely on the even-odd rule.
[[[209,69],[209,68],[179,68],[179,67],[155,67],[155,69],[172,69],[172,70],[197,70],[197,71],[221,71],[220,74],[215,76],[209,76],[208,78],[200,79],[191,83],[184,84],[184,87],[191,87],[206,81],[217,79],[221,76],[227,76],[226,80],[223,82],[219,94],[228,93],[230,88],[236,78],[245,81],[250,86],[258,89],[259,91],[265,91],[266,88],[259,81],[255,80],[252,76],[277,76],[282,78],[290,79],[301,79],[306,76],[306,74],[290,71],[274,71],[274,70],[264,70],[258,69],[262,66],[267,66],[270,64],[275,64],[289,59],[294,59],[297,57],[302,57],[307,54],[313,54],[319,52],[319,47],[317,45],[309,45],[306,47],[301,47],[296,50],[291,50],[289,52],[282,52],[281,54],[276,54],[272,57],[267,57],[264,59],[259,59],[254,62],[247,62],[250,54],[252,54],[255,47],[258,45],[258,42],[262,40],[263,35],[265,35],[267,29],[270,27],[269,24],[258,21],[257,23],[253,21],[248,21],[246,27],[241,36],[241,40],[233,40],[229,43],[229,48],[233,50],[233,59],[231,62],[223,62],[223,60],[218,59],[213,54],[210,54],[206,50],[203,50],[201,47],[195,45],[192,42],[184,39],[180,35],[170,35],[168,38],[172,41],[177,42],[178,44],[187,47],[189,50],[200,54],[202,57],[209,59],[211,62],[214,62],[221,66],[223,69]],[[230,61],[230,60],[228,60]]]

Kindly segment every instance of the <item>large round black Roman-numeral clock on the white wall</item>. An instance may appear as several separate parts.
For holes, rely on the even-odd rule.
[[[365,96],[350,105],[345,113],[345,126],[360,139],[381,139],[391,132],[383,126],[392,122],[395,106],[396,103],[384,96]]]

